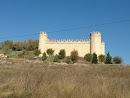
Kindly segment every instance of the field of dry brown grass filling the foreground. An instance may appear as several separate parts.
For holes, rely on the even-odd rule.
[[[0,65],[3,98],[130,98],[130,66]]]

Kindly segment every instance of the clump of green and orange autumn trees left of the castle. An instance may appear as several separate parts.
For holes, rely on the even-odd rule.
[[[23,49],[28,50],[28,51],[34,51],[36,49],[38,49],[38,42],[39,40],[24,40],[24,41],[10,41],[7,40],[5,42],[2,42],[0,44],[0,47],[7,47],[13,51],[22,51]]]

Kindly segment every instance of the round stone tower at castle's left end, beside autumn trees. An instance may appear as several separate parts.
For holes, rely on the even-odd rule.
[[[46,42],[48,40],[48,35],[46,32],[39,32],[39,47],[38,50],[41,51],[41,53],[46,52],[47,46]],[[40,54],[42,56],[42,54]]]

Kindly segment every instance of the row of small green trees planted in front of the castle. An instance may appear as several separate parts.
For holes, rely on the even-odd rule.
[[[54,55],[54,50],[51,48],[47,49],[46,53],[49,55],[49,58],[50,58],[52,55]],[[45,52],[43,53],[43,56],[42,56],[43,61],[47,59],[46,53]],[[54,56],[53,61],[58,62],[59,59],[64,59],[65,57],[66,57],[66,52],[64,49],[62,49],[62,50],[60,50],[58,55],[56,54]],[[112,63],[121,64],[122,63],[121,57],[116,56],[112,60],[112,57],[110,56],[109,53],[107,54],[107,56],[99,55],[98,57],[97,57],[96,53],[93,53],[93,54],[88,53],[84,56],[84,59],[88,62],[95,63],[95,64],[97,64],[98,62],[105,63],[105,64],[112,64]],[[70,63],[71,61],[76,62],[77,60],[78,60],[78,51],[77,50],[73,50],[70,54],[70,57],[66,58],[67,63]]]

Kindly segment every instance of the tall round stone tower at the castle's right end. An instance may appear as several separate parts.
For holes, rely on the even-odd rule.
[[[101,33],[91,32],[90,33],[90,53],[96,53],[99,56],[101,53]]]

